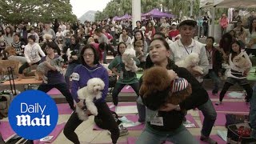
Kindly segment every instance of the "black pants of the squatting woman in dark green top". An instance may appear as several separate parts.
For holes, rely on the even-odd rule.
[[[116,83],[114,86],[114,90],[112,91],[112,98],[113,98],[113,103],[114,106],[118,106],[118,94],[120,93],[120,91],[122,90],[122,88],[126,86],[126,84],[121,84],[121,83]],[[131,86],[135,93],[137,94],[137,96],[139,96],[139,83],[133,83],[133,84],[129,84],[129,86]]]

